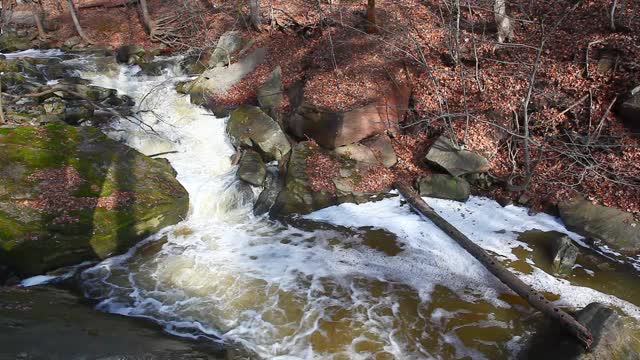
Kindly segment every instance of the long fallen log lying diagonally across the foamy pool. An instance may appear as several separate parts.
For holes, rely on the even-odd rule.
[[[484,267],[489,270],[495,277],[507,285],[516,294],[524,298],[532,307],[539,310],[544,315],[557,321],[563,328],[568,330],[578,340],[580,340],[587,349],[591,347],[593,342],[593,336],[591,332],[571,315],[562,311],[560,308],[554,306],[549,300],[534,290],[529,285],[525,284],[512,272],[507,270],[498,260],[489,255],[483,248],[476,245],[471,239],[464,235],[455,226],[451,225],[447,220],[438,215],[422,197],[406,183],[396,182],[396,189],[402,194],[405,200],[417,211],[420,215],[431,220],[442,231],[454,239],[460,246],[462,246],[469,254],[475,257]]]

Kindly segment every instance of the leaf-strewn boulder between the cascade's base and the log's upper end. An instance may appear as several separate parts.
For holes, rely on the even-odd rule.
[[[284,187],[271,214],[307,214],[340,203],[382,199],[389,190],[387,186],[367,189],[363,184],[379,168],[380,165],[348,159],[310,141],[300,142],[292,150]]]

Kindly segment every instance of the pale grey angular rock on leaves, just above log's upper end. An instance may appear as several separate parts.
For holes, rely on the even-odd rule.
[[[489,171],[487,159],[468,150],[458,149],[453,142],[441,136],[427,153],[428,163],[446,170],[453,176]]]

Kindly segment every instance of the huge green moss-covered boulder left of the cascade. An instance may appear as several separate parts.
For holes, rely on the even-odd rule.
[[[0,264],[22,275],[123,252],[175,224],[171,166],[93,128],[0,128]]]

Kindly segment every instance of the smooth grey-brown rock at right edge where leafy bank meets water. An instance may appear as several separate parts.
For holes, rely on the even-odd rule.
[[[592,204],[580,196],[558,203],[558,210],[569,230],[595,244],[626,254],[640,253],[640,224],[630,213]]]

